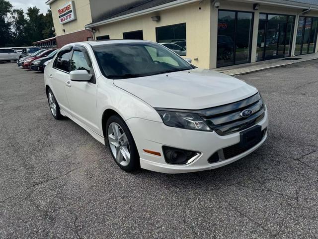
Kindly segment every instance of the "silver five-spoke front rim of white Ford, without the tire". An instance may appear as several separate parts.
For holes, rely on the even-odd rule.
[[[109,124],[108,141],[117,163],[127,166],[130,162],[130,146],[124,130],[118,123]]]

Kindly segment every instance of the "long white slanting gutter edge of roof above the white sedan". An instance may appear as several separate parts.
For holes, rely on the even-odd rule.
[[[152,12],[161,11],[161,10],[165,10],[165,9],[169,9],[172,7],[184,5],[187,3],[193,3],[193,2],[197,2],[197,1],[201,1],[201,0],[175,0],[175,1],[161,4],[159,6],[150,7],[150,8],[141,10],[141,11],[136,11],[136,12],[132,12],[132,13],[129,13],[126,15],[110,18],[107,20],[102,20],[102,21],[90,23],[90,24],[85,25],[85,28],[92,28],[95,26],[100,26],[100,25],[104,25],[104,24],[108,24],[108,23],[112,23],[112,22],[116,22],[116,21],[121,21],[121,20],[132,18],[132,17],[136,17],[136,16],[142,16],[142,15],[146,15],[146,14],[149,14]]]

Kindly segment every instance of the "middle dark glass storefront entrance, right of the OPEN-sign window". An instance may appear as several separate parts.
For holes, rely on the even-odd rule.
[[[291,55],[295,16],[259,15],[256,61]]]

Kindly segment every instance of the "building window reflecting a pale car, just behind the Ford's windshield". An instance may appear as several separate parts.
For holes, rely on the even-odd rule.
[[[186,28],[185,23],[161,26],[156,28],[157,42],[179,54],[186,55]]]

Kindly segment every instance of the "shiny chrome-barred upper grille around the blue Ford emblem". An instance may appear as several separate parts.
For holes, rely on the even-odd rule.
[[[246,109],[252,114],[241,117]],[[264,118],[265,108],[259,93],[235,103],[207,109],[201,117],[219,135],[228,135],[246,129]]]

